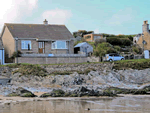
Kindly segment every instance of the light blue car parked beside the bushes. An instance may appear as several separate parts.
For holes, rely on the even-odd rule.
[[[117,53],[109,53],[105,55],[105,61],[124,60],[125,58]]]

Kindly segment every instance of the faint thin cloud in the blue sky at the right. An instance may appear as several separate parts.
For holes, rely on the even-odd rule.
[[[106,20],[105,23],[110,26],[122,25],[126,22],[133,20],[133,18],[134,18],[133,10],[131,8],[126,8],[112,15],[112,17]]]

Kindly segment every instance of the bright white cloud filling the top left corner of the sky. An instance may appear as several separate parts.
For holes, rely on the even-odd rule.
[[[0,28],[4,23],[20,22],[21,18],[32,14],[38,0],[3,0],[0,2]]]

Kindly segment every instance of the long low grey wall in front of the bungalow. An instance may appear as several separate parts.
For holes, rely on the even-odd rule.
[[[15,59],[15,62],[17,60]],[[59,63],[83,63],[87,57],[19,57],[18,63],[30,64],[59,64]]]

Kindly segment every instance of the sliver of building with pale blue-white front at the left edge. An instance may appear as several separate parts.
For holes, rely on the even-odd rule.
[[[4,47],[3,47],[1,38],[0,38],[0,64],[1,65],[5,64],[5,51],[4,51]]]

